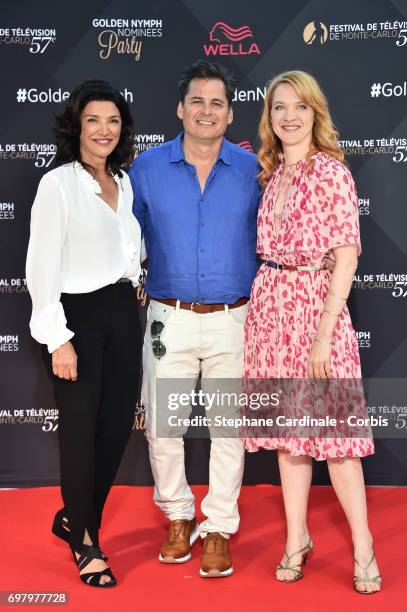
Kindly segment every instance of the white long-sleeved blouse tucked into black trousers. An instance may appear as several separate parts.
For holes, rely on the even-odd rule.
[[[141,230],[132,212],[133,191],[115,175],[117,212],[98,195],[99,183],[78,162],[42,177],[31,211],[27,286],[33,303],[32,336],[50,353],[70,340],[61,293],[89,293],[119,278],[137,285]]]

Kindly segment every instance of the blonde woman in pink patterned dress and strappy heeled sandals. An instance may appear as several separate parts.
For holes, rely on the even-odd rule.
[[[318,83],[301,71],[277,76],[260,122],[257,252],[245,327],[246,379],[360,379],[358,344],[346,300],[360,253],[358,201],[338,133]],[[330,272],[325,258],[335,260]],[[313,549],[307,527],[312,458],[326,460],[349,521],[354,588],[380,590],[367,521],[360,457],[371,437],[249,437],[248,451],[276,449],[287,519],[287,543],[276,577],[302,578]]]

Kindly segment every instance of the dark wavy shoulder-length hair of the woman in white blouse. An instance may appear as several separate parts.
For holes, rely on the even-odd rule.
[[[121,176],[120,168],[128,167],[133,159],[133,118],[129,105],[121,93],[106,81],[98,79],[84,81],[75,87],[65,109],[55,117],[53,129],[57,146],[55,162],[61,165],[78,161],[85,168],[89,168],[89,164],[81,159],[80,153],[81,113],[88,102],[94,100],[113,102],[119,110],[122,120],[120,139],[107,158],[107,166],[113,174]]]

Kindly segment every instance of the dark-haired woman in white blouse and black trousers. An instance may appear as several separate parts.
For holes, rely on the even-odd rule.
[[[64,508],[52,531],[70,544],[83,582],[112,587],[99,528],[132,429],[142,341],[141,232],[121,170],[133,122],[118,91],[86,81],[54,131],[60,165],[40,181],[27,255],[31,333],[46,345],[59,408]]]

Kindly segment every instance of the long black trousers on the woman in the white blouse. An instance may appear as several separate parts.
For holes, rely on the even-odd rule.
[[[78,380],[52,374],[59,409],[61,492],[70,544],[85,529],[98,545],[103,507],[125,451],[139,397],[142,335],[131,283],[62,294]]]

